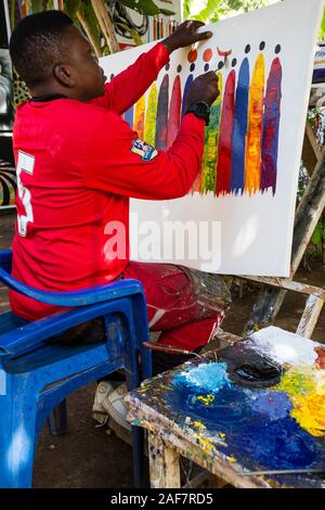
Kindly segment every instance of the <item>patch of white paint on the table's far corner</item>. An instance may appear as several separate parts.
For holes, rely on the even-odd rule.
[[[274,326],[253,333],[250,339],[258,352],[281,365],[312,366],[317,359],[315,347],[324,347],[318,342]]]

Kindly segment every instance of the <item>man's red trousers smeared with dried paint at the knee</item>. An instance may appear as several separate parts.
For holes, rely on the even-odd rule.
[[[162,331],[158,343],[186,350],[206,345],[231,303],[217,275],[172,264],[130,262],[125,278],[140,280],[151,331]]]

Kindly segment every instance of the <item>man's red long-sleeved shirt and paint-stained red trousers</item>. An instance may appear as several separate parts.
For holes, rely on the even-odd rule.
[[[120,117],[168,60],[165,46],[158,43],[106,84],[101,98],[89,103],[31,100],[18,107],[13,276],[48,291],[86,289],[121,272],[138,278],[144,285],[150,321],[157,309],[164,310],[154,324],[168,330],[160,341],[192,349],[208,341],[219,310],[202,320],[192,283],[179,267],[168,266],[161,275],[160,265],[129,263],[129,197],[165,200],[186,194],[203,155],[205,123],[193,114],[183,117],[167,152],[144,145],[146,160],[136,133]],[[126,250],[118,258],[109,253],[110,221],[120,221],[126,230]],[[60,309],[15,292],[11,304],[15,314],[28,320]],[[176,320],[172,310],[180,304],[182,318]],[[181,326],[190,320],[198,320],[195,331],[191,324]]]

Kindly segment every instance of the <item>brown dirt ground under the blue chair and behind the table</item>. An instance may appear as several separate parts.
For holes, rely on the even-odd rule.
[[[0,216],[0,250],[11,246],[14,217]],[[325,288],[325,270],[313,262],[311,270],[300,269],[297,281]],[[223,322],[226,331],[239,334],[249,316],[257,291],[246,289],[244,297],[235,297],[231,313]],[[275,324],[295,331],[303,310],[303,297],[288,293]],[[0,314],[9,308],[6,291],[0,286]],[[325,343],[325,308],[313,339]],[[35,487],[117,488],[132,486],[131,447],[98,428],[91,417],[95,384],[76,392],[68,399],[68,433],[52,436],[42,431],[36,451]]]

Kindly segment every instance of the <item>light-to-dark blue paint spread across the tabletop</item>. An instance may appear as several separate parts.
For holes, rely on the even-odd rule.
[[[216,448],[227,456],[236,452],[247,469],[323,468],[323,439],[291,418],[287,394],[276,386],[243,387],[230,379],[226,369],[227,364],[222,361],[176,372],[169,383],[173,390],[164,392],[160,398],[179,426],[186,426],[186,417],[203,423],[204,435],[216,437]],[[208,404],[198,398],[207,395],[213,395]],[[217,441],[220,433],[225,433],[226,445]]]

